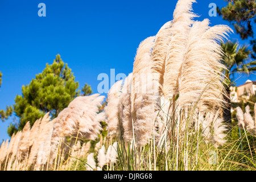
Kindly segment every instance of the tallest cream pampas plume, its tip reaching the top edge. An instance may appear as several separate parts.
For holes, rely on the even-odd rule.
[[[174,20],[170,28],[171,40],[168,43],[163,76],[163,94],[166,98],[177,95],[177,81],[184,60],[188,33],[193,23],[192,19],[196,16],[191,12],[193,2],[195,0],[180,0],[174,10]]]

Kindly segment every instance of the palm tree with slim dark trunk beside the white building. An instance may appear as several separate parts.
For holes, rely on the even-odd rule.
[[[223,71],[225,75],[224,85],[227,93],[225,97],[227,105],[224,109],[224,120],[225,122],[231,122],[230,86],[234,82],[234,73],[245,73],[249,75],[251,72],[256,71],[256,61],[249,59],[251,51],[245,44],[239,46],[238,42],[227,41],[225,43],[222,42],[221,47],[225,53],[222,56],[221,62],[227,68]]]

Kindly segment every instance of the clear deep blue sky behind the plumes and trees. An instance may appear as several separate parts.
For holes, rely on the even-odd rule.
[[[128,75],[133,71],[139,43],[172,19],[176,2],[1,0],[0,109],[13,105],[15,96],[22,93],[22,85],[29,84],[46,63],[51,64],[57,53],[72,69],[80,88],[87,82],[94,93],[100,73],[110,75],[110,69],[115,69],[115,74]],[[46,17],[38,16],[39,3],[46,4]],[[229,25],[220,16],[208,15],[209,3],[226,5],[223,0],[197,0],[193,10],[201,16],[196,19],[208,18],[212,26]],[[240,40],[236,34],[230,39]],[[246,79],[240,78],[237,85]],[[6,130],[13,119],[0,121],[0,142],[9,138]]]

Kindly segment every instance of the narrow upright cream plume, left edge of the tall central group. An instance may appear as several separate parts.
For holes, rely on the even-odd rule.
[[[139,45],[133,68],[133,90],[131,92],[131,114],[134,121],[134,134],[138,147],[144,146],[154,132],[156,86],[151,74],[151,53],[155,36],[151,36]],[[131,141],[131,133],[129,136]]]

